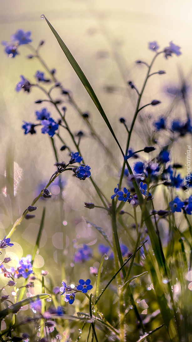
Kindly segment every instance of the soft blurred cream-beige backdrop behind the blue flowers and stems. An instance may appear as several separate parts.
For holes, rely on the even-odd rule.
[[[40,15],[44,13],[79,63],[94,88],[123,147],[126,142],[126,131],[118,119],[122,116],[125,117],[129,127],[137,100],[134,91],[127,87],[127,81],[132,80],[138,89],[141,88],[146,67],[135,64],[135,61],[141,59],[150,63],[153,52],[148,50],[149,41],[156,40],[160,48],[163,49],[173,40],[176,45],[181,47],[182,55],[170,57],[168,60],[163,55],[157,58],[153,71],[166,70],[166,75],[155,75],[150,79],[143,95],[142,105],[153,99],[161,100],[162,104],[143,110],[144,124],[136,124],[131,142],[131,147],[134,150],[147,145],[147,135],[149,134],[152,137],[154,133],[151,122],[154,118],[158,118],[159,115],[167,112],[172,100],[164,95],[163,89],[167,84],[174,83],[177,85],[180,83],[179,69],[182,70],[183,75],[190,83],[192,71],[191,1],[1,0],[0,6],[0,40],[9,41],[10,35],[20,28],[32,32],[32,45],[34,47],[37,47],[40,40],[45,40],[45,45],[40,50],[42,57],[51,69],[56,68],[56,77],[62,82],[65,89],[72,91],[81,110],[90,112],[92,125],[105,144],[110,147],[120,167],[122,157],[107,130],[107,126],[69,65],[45,20],[42,20]],[[9,58],[3,52],[3,46],[1,47],[0,175],[1,188],[5,185],[8,188],[7,196],[1,194],[0,197],[2,237],[8,234],[12,223],[31,204],[37,186],[48,181],[55,172],[55,159],[48,136],[41,134],[40,129],[37,129],[36,135],[24,135],[24,131],[21,129],[22,120],[33,122],[35,110],[40,110],[45,105],[34,103],[39,98],[44,98],[44,95],[36,88],[33,88],[29,94],[23,91],[17,93],[14,90],[20,79],[19,75],[24,75],[31,82],[34,82],[36,71],[44,71],[35,58],[32,60],[26,58],[26,55],[30,54],[27,45],[19,47],[19,52],[20,54],[15,58]],[[46,76],[48,77],[48,75]],[[47,85],[46,88],[49,89],[49,86]],[[110,200],[113,188],[117,184],[118,171],[114,168],[110,158],[105,155],[103,149],[97,145],[83,120],[67,103],[66,97],[61,97],[56,90],[54,96],[56,99],[62,98],[61,106],[66,105],[66,118],[73,133],[77,133],[79,130],[85,133],[80,144],[82,154],[85,162],[91,166],[93,178]],[[58,119],[55,109],[51,105],[46,107],[49,108],[54,119]],[[151,116],[152,119],[150,119]],[[185,110],[182,103],[174,108],[169,115],[169,122],[172,121],[173,117],[185,120]],[[73,152],[76,152],[67,133],[64,131],[62,134]],[[175,151],[173,149],[174,161],[182,162],[184,160],[182,158],[184,158],[187,144],[190,144],[189,137],[183,138],[181,143],[177,144]],[[60,142],[56,141],[56,145],[59,150]],[[66,151],[59,153],[60,161],[68,161],[68,158]],[[20,171],[22,180],[18,184],[16,196],[13,193],[14,162],[23,170]],[[4,177],[5,170],[6,178]],[[183,176],[185,174],[186,170],[183,170]],[[17,263],[18,259],[15,255],[20,258],[22,254],[25,257],[26,254],[32,253],[42,208],[46,205],[44,233],[37,258],[36,272],[41,272],[41,269],[48,269],[54,278],[58,277],[53,280],[55,285],[59,285],[61,280],[60,263],[61,254],[63,254],[61,237],[63,233],[67,235],[64,254],[68,267],[73,261],[72,239],[77,240],[76,246],[80,246],[82,243],[94,245],[96,242],[103,242],[91,227],[87,227],[84,218],[102,226],[111,237],[110,219],[106,212],[99,209],[89,211],[84,208],[84,201],[100,205],[91,182],[88,179],[84,182],[80,181],[67,172],[62,177],[66,181],[63,212],[60,213],[57,196],[53,196],[47,201],[39,201],[37,203],[38,209],[35,212],[36,218],[31,221],[23,220],[11,239],[15,241],[15,246],[10,248],[10,252],[15,253],[12,254],[12,264]],[[51,191],[53,192],[53,190]],[[127,209],[130,210],[128,204]],[[63,221],[66,221],[67,225],[64,226]],[[131,223],[127,221],[127,227]],[[124,232],[122,242],[129,249],[132,249]],[[90,266],[97,266],[98,261],[99,257],[95,251],[95,260],[91,261]],[[10,265],[12,264],[10,263]],[[81,268],[80,277],[86,279],[88,270],[85,269],[84,265],[75,265],[74,269],[76,270],[79,267]],[[76,279],[77,276],[74,275],[72,277],[71,280],[76,282],[79,279]],[[35,287],[31,291],[38,293],[39,289]]]

